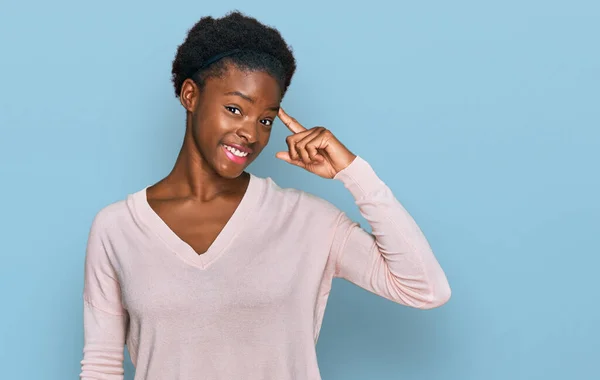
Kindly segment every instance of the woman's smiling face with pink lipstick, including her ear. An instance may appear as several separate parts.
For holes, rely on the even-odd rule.
[[[236,178],[269,142],[281,89],[262,71],[229,66],[208,78],[202,90],[186,80],[181,101],[191,113],[191,133],[200,156],[218,175]]]

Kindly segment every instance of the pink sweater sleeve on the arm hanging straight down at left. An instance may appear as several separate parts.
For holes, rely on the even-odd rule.
[[[80,378],[122,380],[128,317],[121,305],[121,289],[109,260],[101,216],[94,219],[86,251]]]

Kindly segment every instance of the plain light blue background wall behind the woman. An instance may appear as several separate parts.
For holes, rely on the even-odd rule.
[[[214,3],[2,3],[0,378],[77,378],[91,220],[168,173],[175,49],[238,8],[294,47],[288,112],[372,164],[453,289],[419,311],[336,280],[323,378],[600,379],[598,2]],[[286,135],[251,171],[362,221],[273,157]]]

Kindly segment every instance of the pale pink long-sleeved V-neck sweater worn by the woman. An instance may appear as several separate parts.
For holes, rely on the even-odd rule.
[[[334,277],[414,308],[445,303],[427,240],[371,166],[357,157],[335,179],[371,233],[321,198],[254,175],[201,255],[146,189],[103,208],[86,253],[81,378],[123,379],[127,344],[136,380],[318,380]]]

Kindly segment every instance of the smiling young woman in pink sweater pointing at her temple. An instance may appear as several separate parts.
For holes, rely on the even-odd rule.
[[[82,379],[320,379],[315,344],[332,279],[402,305],[450,288],[415,221],[361,157],[280,108],[296,68],[279,32],[234,12],[177,51],[183,147],[158,183],[102,209],[85,266]],[[245,171],[279,117],[277,157],[340,181],[369,234],[332,204]]]

